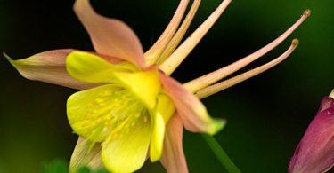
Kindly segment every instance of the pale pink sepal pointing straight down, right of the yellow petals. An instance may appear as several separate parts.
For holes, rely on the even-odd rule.
[[[183,153],[183,124],[178,114],[174,114],[167,123],[161,163],[168,173],[188,173]]]

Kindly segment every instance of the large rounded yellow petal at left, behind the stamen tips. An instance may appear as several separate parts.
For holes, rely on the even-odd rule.
[[[103,122],[111,117],[110,110],[118,106],[112,97],[112,93],[118,90],[121,89],[108,84],[71,95],[67,114],[72,129],[90,141],[102,142],[110,134],[109,129],[103,129]]]

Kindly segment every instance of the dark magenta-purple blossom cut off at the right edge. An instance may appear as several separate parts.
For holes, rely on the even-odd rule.
[[[334,165],[334,90],[322,104],[289,162],[291,173],[326,172]]]

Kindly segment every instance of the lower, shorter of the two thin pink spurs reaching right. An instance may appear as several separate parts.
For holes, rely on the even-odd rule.
[[[232,77],[231,79],[225,80],[221,83],[216,83],[214,85],[208,86],[207,88],[198,91],[195,95],[197,96],[197,98],[207,98],[208,96],[211,96],[216,92],[232,87],[237,83],[241,83],[255,75],[258,75],[268,70],[269,68],[276,66],[284,59],[288,58],[289,55],[292,53],[292,51],[294,51],[297,48],[297,45],[298,45],[298,40],[294,39],[289,49],[285,51],[283,54],[281,54],[281,56],[278,57],[277,59],[273,59],[272,61],[266,63],[265,65],[249,70],[248,72]]]

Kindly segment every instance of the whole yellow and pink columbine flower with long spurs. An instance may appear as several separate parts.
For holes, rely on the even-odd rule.
[[[147,156],[151,161],[160,159],[168,172],[188,171],[182,146],[183,127],[213,135],[224,126],[224,120],[208,115],[198,98],[240,83],[286,59],[297,47],[296,39],[279,58],[218,83],[271,51],[309,15],[309,11],[305,11],[272,43],[232,65],[183,85],[169,77],[230,2],[224,0],[200,28],[179,45],[200,5],[200,0],[194,0],[179,26],[189,3],[181,0],[157,43],[143,53],[137,36],[125,23],[98,15],[88,0],[77,0],[74,10],[96,52],[56,50],[28,59],[7,57],[20,74],[30,80],[88,89],[70,96],[67,104],[69,123],[81,137],[71,158],[72,171],[80,164],[99,168],[103,163],[112,172],[133,172],[143,166]]]

